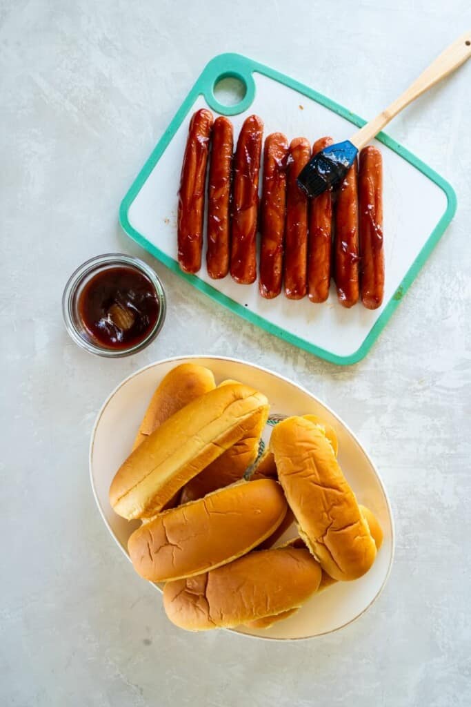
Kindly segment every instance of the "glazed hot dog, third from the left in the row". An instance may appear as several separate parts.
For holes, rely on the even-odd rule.
[[[256,233],[258,173],[263,120],[249,115],[242,125],[234,158],[232,243],[230,272],[236,282],[249,285],[257,277]]]

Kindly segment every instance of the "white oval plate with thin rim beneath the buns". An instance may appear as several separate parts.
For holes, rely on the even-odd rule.
[[[133,439],[160,380],[179,363],[200,363],[210,368],[216,382],[233,378],[263,392],[272,415],[316,414],[335,429],[338,460],[359,503],[371,508],[383,528],[384,541],[371,570],[354,582],[338,582],[309,602],[292,617],[265,631],[239,627],[237,631],[260,638],[292,640],[314,638],[337,631],[361,616],[378,598],[386,584],[394,554],[393,516],[386,490],[362,445],[352,431],[325,404],[291,380],[266,368],[222,356],[181,356],[151,363],[121,382],[103,404],[90,443],[90,477],[97,506],[112,537],[128,556],[129,535],[138,521],[129,522],[114,513],[108,489],[112,478],[131,450]],[[271,427],[264,433],[265,441]],[[290,532],[290,531],[288,531]],[[293,535],[293,533],[291,533]],[[158,585],[151,585],[160,590]]]

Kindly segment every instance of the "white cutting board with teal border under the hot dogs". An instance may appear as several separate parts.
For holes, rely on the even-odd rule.
[[[218,84],[239,81],[241,100],[222,105]],[[374,141],[383,153],[383,209],[386,286],[383,305],[350,310],[339,305],[335,286],[325,303],[308,298],[287,300],[282,294],[265,300],[258,283],[236,284],[228,275],[212,280],[203,266],[197,275],[184,274],[177,262],[177,206],[181,162],[191,115],[208,107],[228,115],[234,140],[244,119],[256,113],[265,122],[264,135],[283,132],[291,140],[305,136],[313,143],[331,135],[350,137],[365,121],[346,108],[239,54],[220,54],[203,69],[169,127],[124,197],[120,209],[126,233],[172,271],[244,319],[294,346],[332,363],[357,363],[368,353],[434,245],[453,218],[455,192],[451,185],[393,139],[381,133]],[[413,198],[411,195],[413,194]]]

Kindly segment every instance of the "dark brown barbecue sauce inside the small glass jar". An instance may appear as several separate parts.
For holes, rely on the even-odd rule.
[[[78,316],[90,339],[107,349],[129,349],[155,326],[160,305],[140,271],[119,265],[94,275],[78,296]]]

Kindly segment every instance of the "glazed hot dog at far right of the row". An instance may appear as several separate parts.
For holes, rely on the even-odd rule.
[[[360,153],[358,188],[362,302],[366,309],[377,309],[384,296],[384,248],[383,161],[376,147]]]

